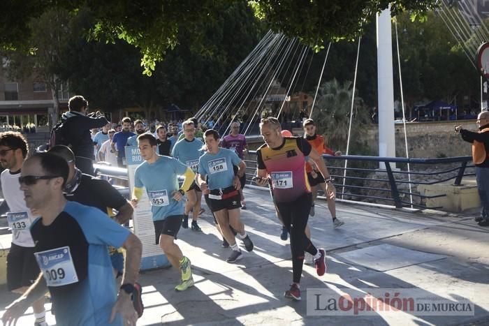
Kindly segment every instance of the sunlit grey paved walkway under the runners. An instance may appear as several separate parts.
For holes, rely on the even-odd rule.
[[[478,325],[489,323],[489,228],[473,216],[426,214],[365,205],[337,204],[345,224],[333,229],[326,203],[309,219],[314,244],[328,251],[328,272],[316,276],[305,266],[302,301],[283,297],[292,279],[289,241],[268,192],[245,189],[242,221],[255,244],[239,264],[225,262],[231,249],[221,248],[212,216],[203,214],[202,233],[180,230],[178,243],[194,266],[196,286],[173,290],[173,269],[143,272],[145,313],[138,325]],[[208,209],[207,209],[208,211]],[[359,251],[361,249],[361,251]],[[308,316],[307,289],[419,288],[423,294],[471,298],[472,316],[414,316],[370,312],[371,316]],[[0,289],[0,306],[14,295]],[[449,293],[446,293],[449,290]],[[312,291],[312,290],[310,290]],[[312,293],[312,292],[311,292]],[[31,311],[17,325],[32,325]],[[54,319],[48,314],[48,322]]]

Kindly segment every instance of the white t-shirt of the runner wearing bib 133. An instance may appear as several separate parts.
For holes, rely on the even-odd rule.
[[[20,190],[20,172],[10,174],[10,170],[3,170],[0,175],[1,191],[3,198],[10,208],[7,213],[8,226],[12,229],[12,243],[17,246],[33,247],[31,237],[31,223],[36,219],[27,208],[24,200],[24,192]]]

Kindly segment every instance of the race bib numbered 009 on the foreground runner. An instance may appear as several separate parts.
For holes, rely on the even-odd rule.
[[[41,251],[34,255],[48,286],[67,286],[78,282],[70,247]]]

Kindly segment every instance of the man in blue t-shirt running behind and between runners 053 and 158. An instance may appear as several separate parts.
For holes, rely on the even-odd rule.
[[[183,131],[185,138],[179,140],[171,152],[171,156],[177,158],[180,162],[191,168],[192,172],[197,172],[198,158],[203,154],[204,143],[195,138],[195,125],[194,121],[187,120],[183,123]],[[185,205],[184,216],[182,219],[182,228],[189,228],[189,213],[192,210],[192,225],[191,229],[194,231],[202,231],[198,226],[197,219],[200,212],[200,202],[202,201],[202,191],[198,188],[197,184],[191,185],[187,192],[187,204]]]

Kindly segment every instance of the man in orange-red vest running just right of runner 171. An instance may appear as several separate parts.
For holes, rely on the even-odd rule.
[[[314,124],[313,119],[306,119],[303,126],[304,138],[319,154],[330,154],[334,156],[340,156],[342,154],[341,151],[332,151],[326,147],[324,137],[322,135],[316,135],[316,124]],[[312,205],[309,215],[314,216],[314,200],[316,200],[317,197],[318,186],[321,187],[323,193],[326,193],[326,184],[331,182],[331,178],[325,180],[321,173],[318,173],[316,164],[311,160],[307,161],[306,172],[307,179],[312,188]],[[336,217],[335,192],[333,191],[332,195],[327,196],[326,200],[328,200],[328,209],[330,210],[331,218],[333,218],[333,225],[335,228],[339,228],[344,222]]]

